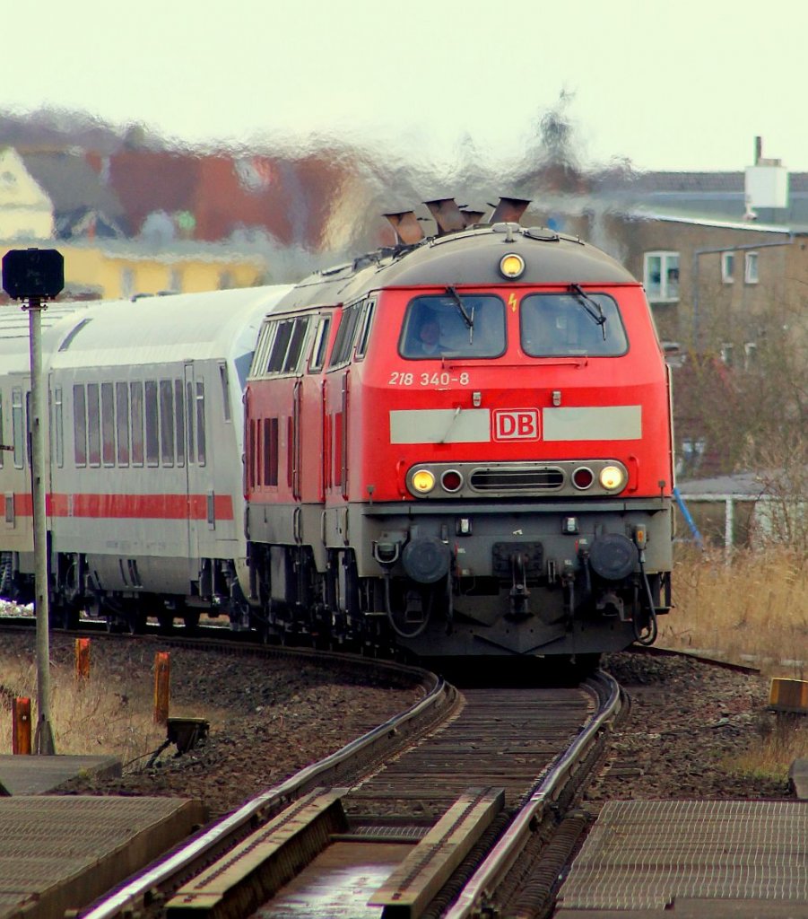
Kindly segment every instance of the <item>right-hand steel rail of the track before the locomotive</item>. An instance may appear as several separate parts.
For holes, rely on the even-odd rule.
[[[578,762],[587,754],[597,734],[607,721],[621,708],[620,686],[611,675],[598,671],[584,687],[599,700],[599,708],[587,726],[578,734],[567,750],[556,756],[548,766],[544,780],[538,786],[511,825],[499,838],[483,863],[466,883],[455,902],[443,913],[443,919],[469,919],[483,905],[499,880],[504,878],[526,845],[537,820],[554,800],[559,785],[570,775]]]

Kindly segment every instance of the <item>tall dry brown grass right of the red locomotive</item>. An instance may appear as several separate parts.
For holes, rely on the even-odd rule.
[[[679,547],[678,547],[679,549]],[[752,663],[764,674],[808,678],[808,559],[801,552],[685,548],[674,566],[675,608],[659,644]]]

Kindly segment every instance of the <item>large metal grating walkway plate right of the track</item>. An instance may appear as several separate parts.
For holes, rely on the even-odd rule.
[[[573,863],[558,907],[566,916],[765,901],[804,903],[794,914],[808,915],[806,850],[808,801],[612,801]]]

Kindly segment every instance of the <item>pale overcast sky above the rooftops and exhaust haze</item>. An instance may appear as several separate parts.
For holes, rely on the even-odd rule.
[[[582,165],[808,171],[802,0],[6,0],[0,104],[184,142],[329,135],[518,156],[568,96]]]

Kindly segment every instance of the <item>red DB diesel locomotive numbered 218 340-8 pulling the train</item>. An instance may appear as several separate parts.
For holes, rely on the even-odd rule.
[[[666,364],[641,285],[501,199],[298,284],[246,388],[245,595],[287,635],[588,654],[670,607]],[[474,219],[474,218],[472,218]]]

